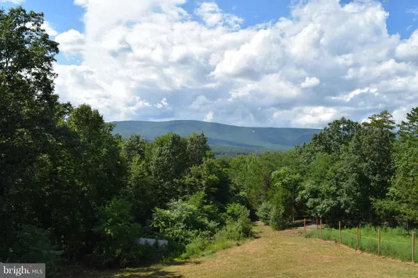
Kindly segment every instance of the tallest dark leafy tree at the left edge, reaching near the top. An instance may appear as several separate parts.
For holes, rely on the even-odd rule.
[[[45,190],[36,183],[36,169],[42,163],[52,167],[52,145],[61,140],[56,123],[63,109],[53,71],[59,49],[43,22],[42,13],[21,7],[0,10],[1,261],[23,223],[42,222],[36,208]]]

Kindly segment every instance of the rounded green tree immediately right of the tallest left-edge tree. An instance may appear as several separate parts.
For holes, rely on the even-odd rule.
[[[71,197],[77,204],[68,208],[77,212],[77,218],[72,226],[64,225],[67,253],[75,260],[83,253],[83,246],[95,245],[88,233],[96,225],[98,209],[123,192],[126,165],[119,137],[111,134],[114,125],[105,123],[98,110],[80,105],[72,110],[65,124],[79,137],[80,154],[72,160],[77,192],[72,192]]]

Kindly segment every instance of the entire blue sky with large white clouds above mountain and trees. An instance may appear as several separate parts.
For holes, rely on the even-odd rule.
[[[417,0],[0,0],[45,13],[63,102],[106,121],[323,128],[418,106]]]

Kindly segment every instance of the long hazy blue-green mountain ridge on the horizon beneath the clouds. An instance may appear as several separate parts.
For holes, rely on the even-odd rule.
[[[114,133],[128,138],[133,133],[141,134],[144,139],[153,140],[155,137],[176,132],[181,136],[188,136],[194,132],[204,132],[208,137],[208,144],[221,148],[261,150],[288,150],[295,145],[311,141],[312,135],[320,132],[310,128],[247,128],[222,123],[208,123],[203,121],[115,121]]]

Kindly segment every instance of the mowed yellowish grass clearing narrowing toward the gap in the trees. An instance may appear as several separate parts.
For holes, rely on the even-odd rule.
[[[86,277],[418,277],[417,264],[304,239],[296,230],[273,231],[260,223],[254,230],[255,240],[204,258]]]

